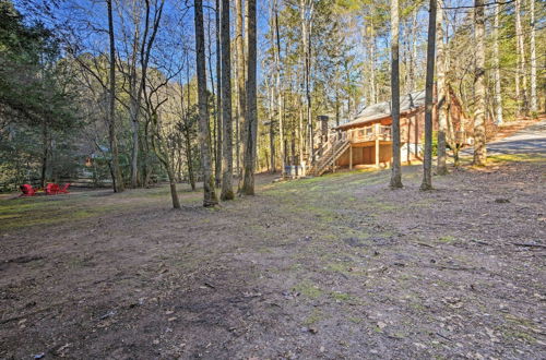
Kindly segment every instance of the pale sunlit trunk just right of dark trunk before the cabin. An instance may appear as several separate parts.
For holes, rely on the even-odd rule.
[[[443,10],[442,1],[437,0],[437,13],[436,13],[436,43],[438,44],[438,51],[436,59],[438,62],[438,175],[447,175],[448,166],[446,164],[446,134],[448,131],[448,96],[446,91],[446,46],[443,43]]]

